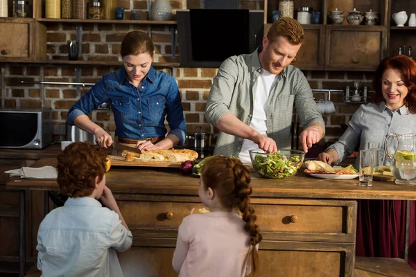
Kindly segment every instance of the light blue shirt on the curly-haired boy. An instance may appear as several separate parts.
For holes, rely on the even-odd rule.
[[[37,233],[37,268],[43,277],[123,276],[116,251],[132,245],[119,215],[94,198],[68,198],[51,211]]]

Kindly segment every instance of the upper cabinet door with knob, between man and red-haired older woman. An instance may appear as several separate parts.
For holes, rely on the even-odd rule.
[[[385,26],[327,26],[326,70],[373,71],[385,57]]]

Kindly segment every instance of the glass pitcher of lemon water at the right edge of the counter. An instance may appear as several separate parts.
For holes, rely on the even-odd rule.
[[[395,154],[388,152],[389,139],[397,139]],[[416,133],[389,134],[384,141],[385,157],[390,161],[390,170],[396,184],[416,185]]]

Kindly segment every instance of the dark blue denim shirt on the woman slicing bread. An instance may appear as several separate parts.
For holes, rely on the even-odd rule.
[[[128,139],[148,139],[165,136],[165,116],[174,134],[184,145],[187,127],[180,92],[175,78],[153,66],[139,89],[130,84],[125,69],[103,75],[68,111],[67,123],[80,115],[89,114],[101,103],[110,102],[116,123],[116,136]]]

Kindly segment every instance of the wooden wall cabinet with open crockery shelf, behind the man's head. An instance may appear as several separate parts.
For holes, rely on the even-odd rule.
[[[374,71],[379,62],[387,55],[388,42],[388,0],[378,1],[340,1],[340,0],[294,0],[296,18],[297,8],[307,6],[322,12],[322,24],[302,25],[304,42],[297,53],[293,65],[302,70],[347,70]],[[275,1],[265,1],[265,34],[272,23],[272,11],[278,10]],[[352,26],[347,19],[343,25],[333,25],[327,15],[331,10],[372,9],[379,13],[379,26]]]

